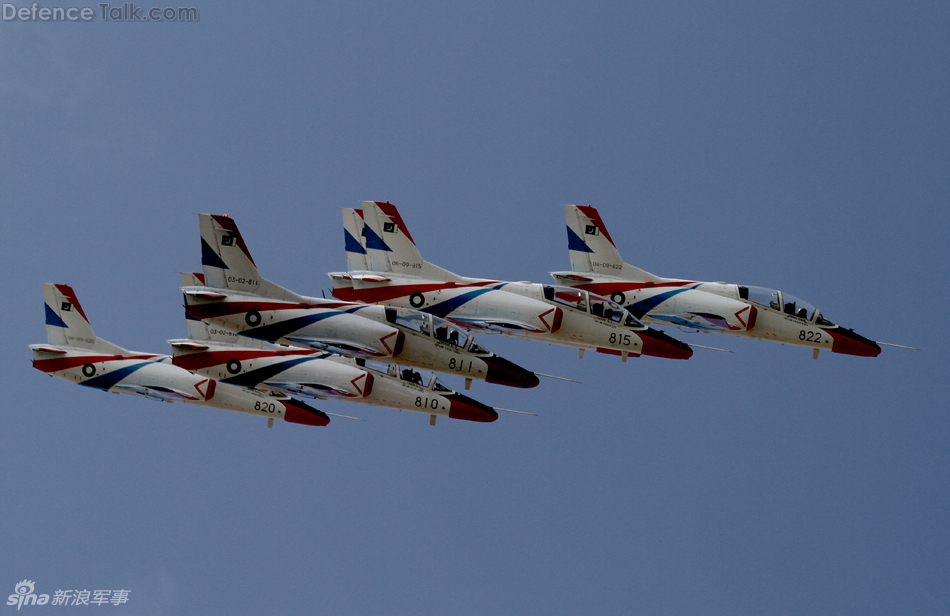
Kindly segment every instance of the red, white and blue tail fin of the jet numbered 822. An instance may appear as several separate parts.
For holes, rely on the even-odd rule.
[[[575,272],[623,276],[632,280],[659,281],[660,278],[624,263],[597,208],[565,205],[567,249]]]

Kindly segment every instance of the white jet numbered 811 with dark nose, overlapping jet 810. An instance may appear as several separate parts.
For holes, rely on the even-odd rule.
[[[183,276],[186,318],[244,338],[392,361],[529,388],[538,377],[444,319],[412,309],[297,295],[261,277],[234,219],[199,215],[204,273]],[[189,281],[192,284],[188,284]]]

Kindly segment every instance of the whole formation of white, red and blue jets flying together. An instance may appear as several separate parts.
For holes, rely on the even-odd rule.
[[[33,366],[102,391],[266,417],[269,426],[347,417],[300,398],[415,411],[435,425],[438,417],[492,422],[508,410],[449,388],[436,373],[462,377],[466,390],[474,381],[531,388],[549,376],[489,352],[476,334],[624,362],[692,356],[690,345],[652,325],[809,347],[815,359],[821,350],[876,357],[886,344],[781,291],[645,272],[623,261],[595,208],[564,210],[571,271],[551,272],[558,284],[542,284],[469,278],[424,261],[396,207],[364,201],[343,210],[347,271],[328,274],[333,299],[263,278],[234,219],[199,214],[202,271],[181,275],[188,338],[168,340],[171,355],[98,338],[73,289],[47,283],[48,342],[30,345]]]

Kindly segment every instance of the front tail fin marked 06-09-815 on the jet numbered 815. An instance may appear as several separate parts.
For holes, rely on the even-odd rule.
[[[364,201],[363,220],[369,269],[413,275],[422,271],[422,255],[395,205]]]

